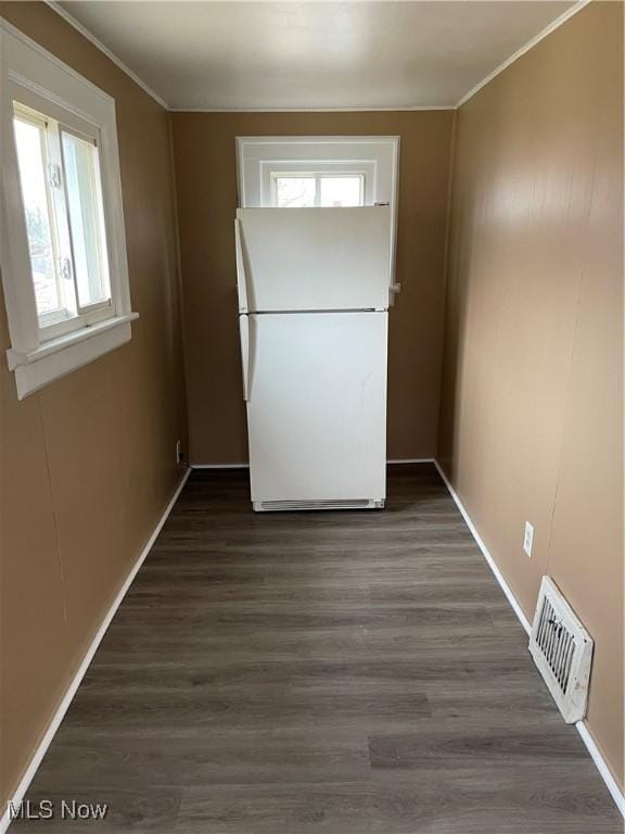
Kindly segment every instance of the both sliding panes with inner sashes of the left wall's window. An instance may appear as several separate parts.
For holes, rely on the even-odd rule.
[[[14,102],[15,147],[41,337],[114,314],[95,139]]]

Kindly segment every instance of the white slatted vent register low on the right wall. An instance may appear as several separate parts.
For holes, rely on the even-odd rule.
[[[543,577],[530,653],[566,723],[586,715],[592,639],[549,577]]]

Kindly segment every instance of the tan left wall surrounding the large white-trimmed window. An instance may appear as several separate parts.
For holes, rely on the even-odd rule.
[[[165,509],[184,438],[168,115],[42,3],[0,13],[117,102],[129,344],[22,402],[0,300],[4,803]]]

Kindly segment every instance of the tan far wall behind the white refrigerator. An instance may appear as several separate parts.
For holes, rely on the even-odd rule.
[[[237,324],[237,136],[400,135],[388,455],[436,451],[452,112],[174,113],[191,460],[247,459]]]

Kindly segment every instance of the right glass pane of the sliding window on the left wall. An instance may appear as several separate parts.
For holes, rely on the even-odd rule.
[[[110,298],[98,149],[65,131],[62,140],[78,303],[86,307]]]

